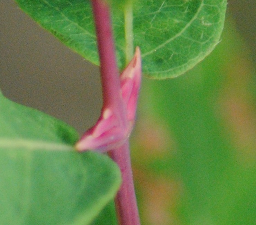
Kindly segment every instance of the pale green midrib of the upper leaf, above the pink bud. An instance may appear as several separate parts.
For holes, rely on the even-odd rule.
[[[130,62],[133,56],[133,27],[132,27],[132,1],[129,1],[125,6],[125,55],[126,55],[126,64]]]

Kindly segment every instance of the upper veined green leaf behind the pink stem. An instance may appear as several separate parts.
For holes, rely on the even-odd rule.
[[[65,45],[99,65],[89,0],[16,1]],[[124,68],[126,7],[114,7],[115,2],[117,59]],[[219,42],[226,4],[226,0],[133,1],[134,46],[141,48],[144,74],[157,79],[176,77],[206,57]]]

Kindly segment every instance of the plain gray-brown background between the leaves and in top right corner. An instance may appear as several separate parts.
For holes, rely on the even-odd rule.
[[[255,9],[255,0],[228,4],[228,13],[252,52]],[[12,0],[0,1],[0,89],[8,98],[62,119],[80,133],[100,115],[99,68],[39,27]]]

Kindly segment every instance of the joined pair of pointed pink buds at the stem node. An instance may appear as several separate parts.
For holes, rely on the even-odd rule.
[[[127,127],[110,108],[103,108],[97,123],[84,133],[76,143],[78,151],[109,151],[120,147],[129,137],[134,125],[141,80],[141,56],[137,47],[135,55],[120,75],[122,100],[127,111]]]

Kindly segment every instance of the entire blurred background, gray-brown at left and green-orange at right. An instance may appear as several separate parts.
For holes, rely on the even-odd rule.
[[[142,224],[256,224],[256,1],[230,0],[222,40],[185,75],[143,79],[131,150]],[[0,88],[82,133],[99,69],[0,2]]]

